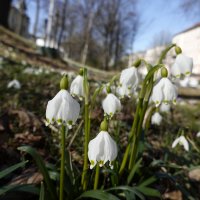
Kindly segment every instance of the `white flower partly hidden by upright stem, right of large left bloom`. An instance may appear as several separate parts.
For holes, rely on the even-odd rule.
[[[78,75],[71,83],[70,93],[72,96],[77,96],[80,100],[84,97],[83,76]]]

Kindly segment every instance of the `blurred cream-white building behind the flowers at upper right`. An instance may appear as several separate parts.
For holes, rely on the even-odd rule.
[[[200,23],[176,34],[172,38],[172,43],[176,43],[181,47],[183,53],[189,57],[193,58],[194,67],[193,75],[196,80],[200,79]],[[146,52],[138,52],[132,55],[132,61],[137,58],[144,58],[150,64],[156,64],[161,52],[166,48],[166,46],[157,46],[152,49],[148,49]],[[175,59],[174,49],[170,50],[164,60],[164,64],[168,68],[171,67]],[[142,75],[146,74],[146,69],[141,68],[140,72]]]

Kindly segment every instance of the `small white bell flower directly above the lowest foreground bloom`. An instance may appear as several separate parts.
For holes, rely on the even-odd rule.
[[[117,111],[121,110],[121,102],[114,94],[107,94],[102,102],[104,113],[112,117]]]

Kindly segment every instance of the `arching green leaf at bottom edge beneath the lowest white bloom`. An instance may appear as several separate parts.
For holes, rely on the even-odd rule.
[[[103,190],[89,190],[81,194],[77,199],[81,198],[94,198],[99,200],[120,200],[118,197],[114,196],[113,194],[110,194],[108,192],[105,192]]]

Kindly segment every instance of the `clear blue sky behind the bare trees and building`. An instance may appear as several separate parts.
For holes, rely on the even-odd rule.
[[[155,36],[161,32],[173,36],[200,22],[200,17],[184,14],[183,10],[180,9],[182,2],[183,0],[138,0],[139,30],[133,44],[134,52],[151,48]],[[30,0],[27,3],[31,33],[34,24],[35,3]],[[46,14],[41,13],[41,23],[43,23]]]

